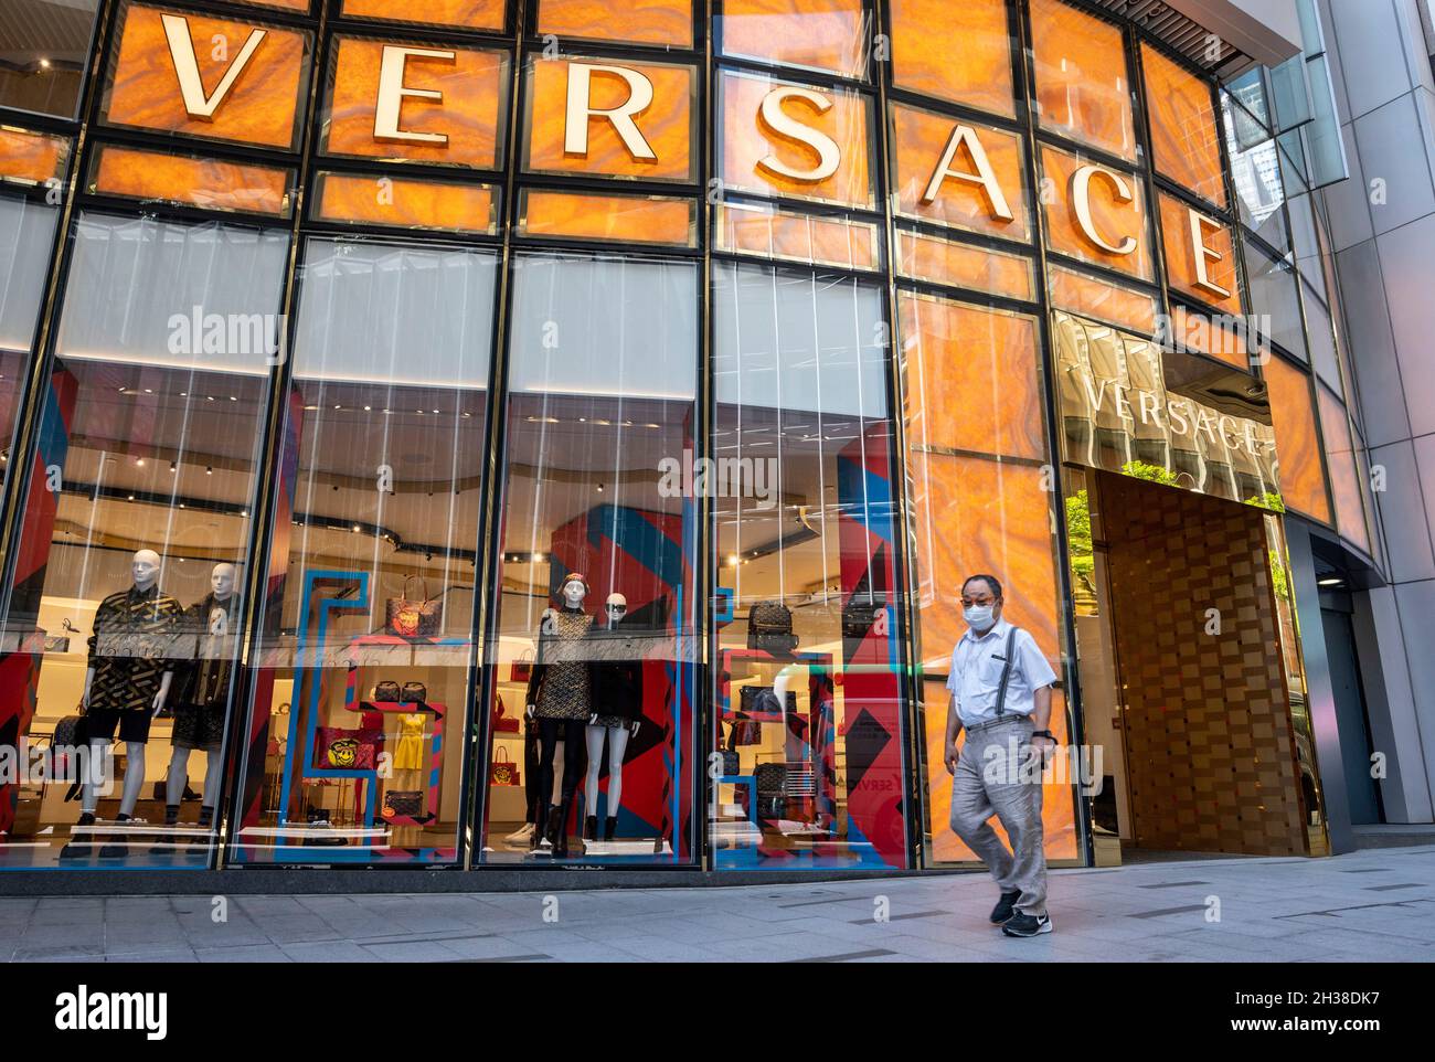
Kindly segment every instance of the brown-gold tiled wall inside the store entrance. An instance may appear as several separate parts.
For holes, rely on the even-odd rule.
[[[1306,855],[1260,511],[1111,475],[1101,499],[1137,845]]]

